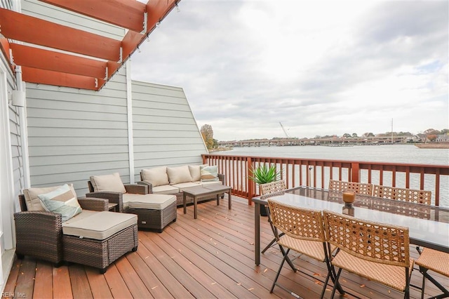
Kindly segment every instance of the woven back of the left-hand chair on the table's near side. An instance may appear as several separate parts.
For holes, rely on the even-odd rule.
[[[325,241],[321,211],[298,208],[268,199],[273,225],[284,234],[309,241]]]

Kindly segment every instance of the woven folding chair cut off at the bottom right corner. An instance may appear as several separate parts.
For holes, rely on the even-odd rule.
[[[426,279],[429,279],[434,286],[439,288],[443,293],[441,295],[434,296],[433,298],[446,298],[449,297],[449,290],[442,286],[434,277],[431,277],[429,270],[442,274],[445,277],[449,277],[449,253],[436,251],[431,248],[424,247],[420,254],[420,257],[416,260],[416,265],[420,266],[420,272],[422,273],[422,288],[421,299],[424,298],[424,288]]]

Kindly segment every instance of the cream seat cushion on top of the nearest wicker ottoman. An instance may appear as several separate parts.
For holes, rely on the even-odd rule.
[[[81,213],[82,214],[82,213]],[[70,236],[104,240],[138,222],[138,216],[102,211],[86,218],[76,217],[62,224],[62,233]]]

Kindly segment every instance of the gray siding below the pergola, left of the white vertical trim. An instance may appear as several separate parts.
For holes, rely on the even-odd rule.
[[[129,182],[126,69],[101,91],[27,84],[29,172],[33,187],[74,184],[119,172]]]

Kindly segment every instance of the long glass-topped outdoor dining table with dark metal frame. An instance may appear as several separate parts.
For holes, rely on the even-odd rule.
[[[344,213],[355,218],[409,228],[410,244],[449,253],[449,209],[356,194],[354,204],[345,205],[342,192],[295,187],[285,192],[254,197],[255,265],[260,265],[260,207],[267,199],[302,208]]]

